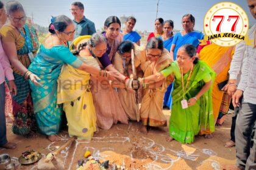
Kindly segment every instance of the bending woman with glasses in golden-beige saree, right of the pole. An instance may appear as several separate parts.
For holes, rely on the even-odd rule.
[[[165,69],[171,63],[168,50],[164,49],[160,38],[151,38],[146,46],[146,55],[141,55],[141,70],[144,77],[153,75]],[[166,117],[163,114],[163,97],[170,82],[162,80],[162,85],[152,83],[150,87],[143,87],[143,97],[140,108],[140,119],[143,123],[141,132],[146,134],[148,126],[166,126]]]

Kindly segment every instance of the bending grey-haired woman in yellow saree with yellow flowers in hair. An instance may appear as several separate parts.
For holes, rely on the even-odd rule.
[[[84,39],[82,43],[79,42],[80,39],[81,37],[76,38],[71,44],[71,47],[75,46],[77,49],[74,54],[79,60],[99,69],[96,59],[85,47],[89,44],[91,52],[101,56],[107,47],[106,39],[99,33],[95,33],[93,36],[82,36]],[[97,49],[97,52],[94,48]],[[90,56],[84,55],[85,53]],[[95,75],[93,76],[95,77]],[[90,73],[75,69],[67,64],[62,67],[58,79],[57,104],[63,104],[63,110],[68,121],[68,133],[84,140],[90,140],[96,131],[96,112],[90,91],[90,78]]]

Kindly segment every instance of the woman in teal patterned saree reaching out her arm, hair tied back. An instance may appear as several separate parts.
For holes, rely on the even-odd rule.
[[[60,131],[62,106],[57,106],[57,79],[63,64],[69,64],[96,76],[110,77],[110,73],[83,63],[68,48],[68,41],[74,38],[76,31],[71,19],[65,15],[52,18],[49,25],[51,33],[41,44],[36,58],[29,70],[41,78],[41,86],[30,83],[35,118],[40,132],[50,141],[57,141]],[[67,86],[66,88],[70,88]],[[72,103],[71,103],[72,104]]]

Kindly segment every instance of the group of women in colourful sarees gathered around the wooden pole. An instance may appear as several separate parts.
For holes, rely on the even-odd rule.
[[[63,113],[69,135],[81,139],[90,140],[96,127],[107,130],[138,119],[146,134],[149,126],[166,126],[162,109],[168,106],[168,141],[192,143],[197,134],[211,137],[216,119],[212,84],[221,66],[214,72],[201,61],[208,60],[205,51],[212,44],[196,56],[203,35],[193,29],[193,15],[182,17],[183,30],[175,35],[171,20],[155,19],[146,47],[133,31],[133,17],[127,18],[123,33],[118,17],[109,16],[104,32],[73,40],[73,21],[59,15],[51,19],[49,35],[39,45],[20,2],[7,2],[5,8],[10,22],[0,34],[17,87],[12,97],[15,134],[30,137],[39,131],[59,140]]]

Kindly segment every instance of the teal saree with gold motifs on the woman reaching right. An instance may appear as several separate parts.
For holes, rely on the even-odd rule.
[[[57,106],[57,79],[62,69],[63,61],[48,56],[41,45],[40,52],[29,70],[40,77],[41,86],[35,86],[31,81],[30,88],[34,103],[35,118],[40,132],[44,135],[55,135],[60,130],[62,106]],[[41,67],[44,66],[44,67]]]

